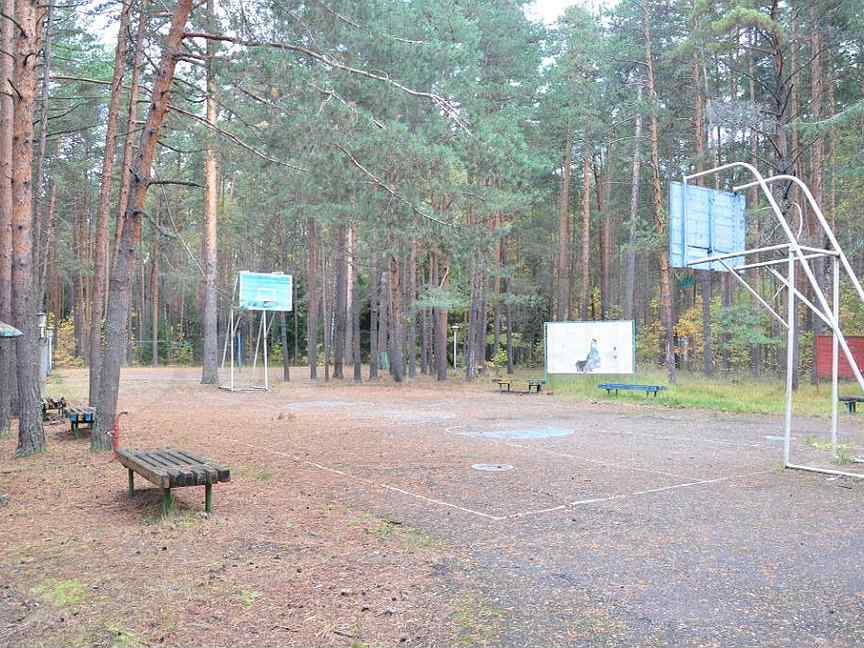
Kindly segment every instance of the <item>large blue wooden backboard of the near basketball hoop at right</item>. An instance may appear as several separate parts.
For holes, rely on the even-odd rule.
[[[673,268],[724,271],[726,267],[716,261],[692,263],[708,256],[743,252],[746,239],[743,194],[669,183],[669,262]],[[744,257],[724,263],[735,268],[744,264]]]

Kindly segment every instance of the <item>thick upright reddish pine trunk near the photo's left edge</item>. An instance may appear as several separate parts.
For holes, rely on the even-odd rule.
[[[33,280],[33,105],[43,10],[36,0],[18,0],[15,16],[15,114],[12,144],[12,320],[18,378],[18,447],[24,457],[45,449],[39,405],[39,327]]]

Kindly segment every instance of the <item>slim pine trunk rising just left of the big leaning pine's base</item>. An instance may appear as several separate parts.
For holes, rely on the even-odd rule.
[[[99,211],[96,217],[96,250],[93,268],[93,292],[90,304],[90,405],[99,396],[100,367],[102,364],[102,319],[105,312],[105,287],[108,276],[108,216],[111,212],[114,157],[117,151],[117,122],[123,101],[123,78],[129,51],[129,14],[132,1],[123,0],[120,9],[120,28],[114,50],[114,74],[111,78],[111,98],[108,102],[108,122],[105,126],[105,154],[102,156],[102,182],[99,189]]]

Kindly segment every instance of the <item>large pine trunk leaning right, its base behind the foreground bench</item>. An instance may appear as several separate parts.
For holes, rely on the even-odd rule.
[[[156,154],[156,144],[168,107],[171,103],[171,84],[186,22],[192,11],[192,0],[178,0],[171,19],[158,75],[153,84],[150,112],[141,133],[141,143],[135,157],[129,204],[124,218],[123,234],[111,276],[108,296],[105,355],[102,359],[100,396],[90,447],[93,450],[111,448],[110,430],[117,415],[117,397],[120,391],[120,364],[125,350],[125,331],[131,301],[130,273],[135,267],[135,254],[140,242],[141,217],[144,200],[151,184],[150,174]]]

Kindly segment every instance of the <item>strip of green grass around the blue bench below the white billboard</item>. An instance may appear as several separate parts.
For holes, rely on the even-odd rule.
[[[517,381],[540,377],[543,370],[520,370]],[[795,414],[829,416],[831,414],[831,385],[816,387],[804,384],[809,376],[802,376],[802,384],[793,399]],[[614,392],[607,395],[598,385],[604,382],[663,385],[666,389],[656,398],[641,392]],[[518,385],[514,385],[518,388]],[[670,385],[666,373],[660,370],[642,371],[633,376],[572,376],[551,378],[547,386],[556,397],[579,400],[618,401],[641,403],[661,407],[695,408],[737,412],[742,414],[782,414],[785,408],[785,381],[778,378],[757,380],[744,375],[716,375],[680,371],[678,384]],[[841,393],[843,386],[841,386]]]

